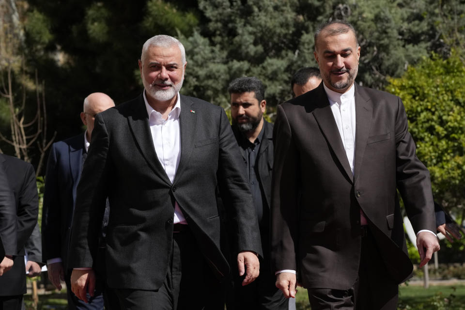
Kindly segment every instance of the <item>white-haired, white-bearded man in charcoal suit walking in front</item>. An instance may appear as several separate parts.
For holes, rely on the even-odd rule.
[[[182,44],[166,35],[144,44],[144,92],[95,118],[78,185],[72,267],[92,267],[108,196],[108,284],[123,309],[223,309],[216,188],[231,202],[234,251],[244,284],[258,276],[260,235],[226,113],[183,96]],[[246,270],[244,270],[246,269]],[[93,270],[74,269],[73,292],[85,299]]]

